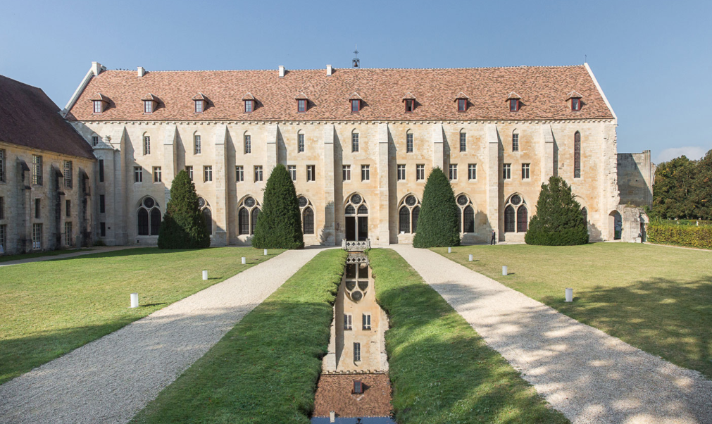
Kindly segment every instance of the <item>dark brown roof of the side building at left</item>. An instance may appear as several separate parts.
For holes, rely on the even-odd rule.
[[[5,76],[0,76],[0,141],[95,159],[89,143],[61,117],[44,91]]]

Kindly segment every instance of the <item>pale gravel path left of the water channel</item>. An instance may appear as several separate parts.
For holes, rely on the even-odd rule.
[[[318,252],[284,252],[5,383],[0,423],[127,423]]]

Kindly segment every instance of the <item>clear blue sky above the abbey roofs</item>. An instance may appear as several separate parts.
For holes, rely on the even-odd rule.
[[[618,115],[618,151],[712,149],[710,1],[11,1],[0,74],[60,107],[110,69],[580,64]],[[671,150],[677,149],[677,150]]]

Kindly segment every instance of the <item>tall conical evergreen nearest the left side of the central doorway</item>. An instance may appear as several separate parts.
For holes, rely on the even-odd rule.
[[[304,247],[297,192],[284,165],[274,167],[267,180],[252,246],[259,249]]]

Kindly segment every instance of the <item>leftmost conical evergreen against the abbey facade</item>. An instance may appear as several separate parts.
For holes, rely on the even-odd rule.
[[[171,200],[166,205],[158,233],[159,249],[210,247],[210,234],[198,207],[198,195],[188,173],[182,170],[171,183]]]

